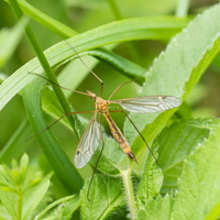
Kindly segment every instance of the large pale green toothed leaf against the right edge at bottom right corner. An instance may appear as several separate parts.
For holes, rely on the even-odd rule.
[[[172,218],[206,219],[220,202],[220,125],[184,162]]]

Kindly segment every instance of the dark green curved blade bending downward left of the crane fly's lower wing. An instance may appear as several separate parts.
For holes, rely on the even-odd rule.
[[[45,82],[45,80],[37,78],[30,84],[23,92],[23,97],[25,99],[24,105],[28,113],[31,116],[30,122],[35,132],[47,128],[47,124],[42,117],[41,109],[41,89]],[[82,179],[57,140],[54,138],[53,133],[50,130],[46,130],[38,134],[37,139],[44,154],[62,183],[69,191],[78,191],[81,188]]]

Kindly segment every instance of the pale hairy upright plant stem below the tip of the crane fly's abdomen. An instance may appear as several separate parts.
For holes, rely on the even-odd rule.
[[[124,185],[124,190],[128,199],[128,206],[129,210],[131,213],[131,218],[135,219],[136,218],[136,207],[134,204],[134,193],[133,193],[133,186],[131,182],[131,169],[125,169],[121,172],[122,179],[123,179],[123,185]]]

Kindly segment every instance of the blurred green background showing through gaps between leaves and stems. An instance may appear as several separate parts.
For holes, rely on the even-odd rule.
[[[116,14],[116,11],[113,13],[110,0],[31,0],[29,2],[40,11],[68,25],[78,33],[82,33],[108,22],[113,22],[118,19],[152,15],[182,15],[178,10],[178,6],[182,1],[177,0],[119,0],[116,1],[119,11],[118,14]],[[189,2],[189,9],[186,12],[188,15],[194,16],[194,14],[197,14],[217,2],[218,1],[215,0],[193,0]],[[15,25],[16,19],[6,1],[0,1],[0,35],[3,35]],[[61,36],[46,30],[34,21],[30,21],[30,24],[43,50],[46,50],[63,40]],[[14,38],[16,38],[18,44],[14,44],[10,56],[0,67],[0,82],[26,62],[35,57],[35,54],[25,36],[21,34],[20,37]],[[120,44],[114,52],[147,69],[153,59],[166,47],[166,44],[167,42],[164,41],[136,41],[130,44]],[[58,68],[56,73],[58,74],[62,69],[63,67]],[[220,117],[219,69],[220,56],[218,55],[187,99],[189,110],[188,117]],[[108,98],[120,82],[129,80],[106,63],[99,63],[94,70],[105,81],[105,98]],[[166,69],[164,69],[164,72],[165,70]],[[89,75],[84,81],[81,81],[77,90],[86,91],[87,89],[92,89],[92,91],[99,94],[99,88],[100,84],[96,78]],[[122,88],[113,98],[135,97],[138,96],[138,86],[129,85],[125,86],[125,88]],[[70,101],[78,111],[94,110],[92,100],[88,99],[88,97],[74,95],[70,98]],[[88,119],[90,118],[90,116],[85,117]],[[121,117],[121,114],[113,114],[113,118],[119,127],[122,128],[124,118]],[[10,141],[16,129],[22,124],[22,122],[25,122],[25,120],[26,114],[22,97],[18,95],[0,112],[0,150],[2,150]],[[53,121],[54,119],[48,117],[48,123]],[[26,123],[25,127],[29,127],[29,124]],[[57,134],[69,157],[73,158],[78,143],[75,134],[64,128],[61,123],[56,124],[53,130]],[[25,148],[32,158],[38,160],[38,156],[40,158],[43,158],[36,139],[32,139],[28,143],[24,143],[24,141],[32,134],[33,131],[31,128],[25,129],[22,136],[22,143],[25,144]],[[44,158],[42,161],[42,163],[45,163]]]

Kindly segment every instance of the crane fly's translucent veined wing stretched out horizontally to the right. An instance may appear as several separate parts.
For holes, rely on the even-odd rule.
[[[153,113],[176,108],[180,105],[180,100],[172,96],[148,96],[112,100],[111,103],[118,103],[130,112]]]

